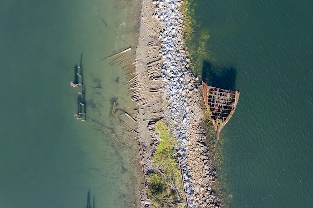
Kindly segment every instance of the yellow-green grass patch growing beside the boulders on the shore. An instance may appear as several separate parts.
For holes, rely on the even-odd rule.
[[[155,124],[155,132],[160,134],[160,143],[157,146],[152,162],[156,166],[153,173],[147,175],[148,195],[152,208],[185,208],[184,192],[181,181],[181,172],[176,153],[178,142],[168,131],[164,121]]]

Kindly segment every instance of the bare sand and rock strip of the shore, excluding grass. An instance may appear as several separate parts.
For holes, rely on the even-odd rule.
[[[141,25],[136,58],[137,82],[133,93],[144,95],[137,101],[137,134],[143,175],[153,171],[153,152],[159,138],[154,123],[170,122],[170,130],[179,141],[179,163],[183,188],[189,208],[221,208],[212,186],[216,169],[208,156],[205,132],[201,123],[202,97],[189,69],[190,59],[183,45],[184,28],[180,0],[146,0],[142,2]],[[145,179],[146,185],[146,179]],[[149,207],[146,190],[140,191],[142,208]]]

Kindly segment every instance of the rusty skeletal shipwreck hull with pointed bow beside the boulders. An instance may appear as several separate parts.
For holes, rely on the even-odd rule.
[[[226,125],[236,109],[241,90],[221,89],[208,86],[204,81],[203,97],[219,139],[220,130]]]

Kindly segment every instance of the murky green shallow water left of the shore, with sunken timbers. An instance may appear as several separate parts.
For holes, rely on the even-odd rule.
[[[102,59],[136,47],[139,15],[129,0],[1,2],[1,208],[138,203],[137,143],[121,115],[134,107],[126,71]],[[70,86],[81,61],[86,122],[73,116],[82,88]]]

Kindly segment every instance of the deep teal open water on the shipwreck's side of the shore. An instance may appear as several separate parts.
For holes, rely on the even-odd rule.
[[[312,207],[312,1],[196,2],[213,68],[242,89],[221,132],[232,208]]]

